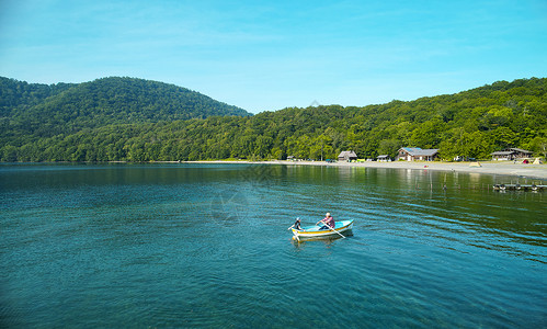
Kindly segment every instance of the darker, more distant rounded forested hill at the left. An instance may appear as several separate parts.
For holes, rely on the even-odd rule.
[[[52,86],[0,78],[0,114],[11,129],[43,137],[111,124],[251,115],[185,88],[118,77]]]

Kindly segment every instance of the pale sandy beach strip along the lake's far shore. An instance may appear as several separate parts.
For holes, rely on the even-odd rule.
[[[481,167],[469,167],[471,162],[438,162],[438,161],[392,161],[392,162],[326,162],[326,161],[290,161],[290,160],[212,160],[212,161],[182,161],[181,163],[253,163],[253,164],[284,164],[284,166],[326,166],[326,167],[356,167],[356,168],[387,168],[411,170],[456,171],[467,173],[500,174],[518,178],[547,180],[547,164],[524,164],[512,161],[486,161]]]

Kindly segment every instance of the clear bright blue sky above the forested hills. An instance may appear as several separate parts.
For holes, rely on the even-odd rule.
[[[250,112],[547,77],[547,1],[0,0],[0,76],[122,76]]]

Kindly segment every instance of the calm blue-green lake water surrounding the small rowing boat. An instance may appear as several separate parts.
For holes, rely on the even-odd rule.
[[[547,194],[508,180],[3,164],[0,327],[545,328]],[[326,212],[353,236],[292,241]]]

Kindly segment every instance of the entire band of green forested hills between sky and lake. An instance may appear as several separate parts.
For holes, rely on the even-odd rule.
[[[394,157],[438,148],[479,159],[506,147],[544,156],[547,79],[415,101],[248,112],[183,88],[129,78],[81,84],[1,79],[1,161],[178,161]],[[181,109],[184,109],[182,111]]]

